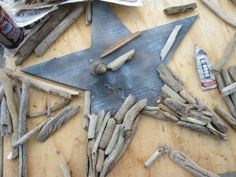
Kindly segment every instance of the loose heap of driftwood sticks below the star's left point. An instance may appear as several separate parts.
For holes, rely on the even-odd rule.
[[[38,133],[39,142],[44,142],[50,135],[59,129],[67,120],[79,111],[79,107],[66,106],[70,103],[73,95],[78,93],[69,93],[64,90],[49,87],[36,80],[31,80],[23,75],[15,74],[10,70],[0,70],[0,88],[1,99],[1,140],[0,140],[0,172],[3,173],[3,137],[12,134],[11,152],[8,155],[9,160],[19,157],[19,176],[27,176],[27,157],[25,143]],[[28,110],[29,88],[52,93],[63,97],[61,103],[47,106],[46,110],[37,113],[30,113]],[[65,107],[65,108],[63,108]],[[51,116],[51,112],[62,109],[56,116]],[[27,118],[48,115],[49,118],[27,132]]]

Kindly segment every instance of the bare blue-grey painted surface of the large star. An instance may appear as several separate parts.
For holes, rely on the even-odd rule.
[[[23,71],[79,89],[90,90],[92,112],[101,109],[115,111],[129,93],[137,99],[147,98],[148,104],[154,105],[163,85],[156,71],[157,65],[167,63],[171,59],[196,19],[197,16],[193,16],[142,31],[137,39],[103,59],[104,63],[109,63],[125,52],[135,49],[131,61],[117,71],[94,76],[89,71],[91,62],[99,60],[101,53],[115,41],[130,34],[105,3],[95,2],[91,48],[31,66]],[[162,61],[160,51],[176,25],[182,25],[182,28],[165,60]]]

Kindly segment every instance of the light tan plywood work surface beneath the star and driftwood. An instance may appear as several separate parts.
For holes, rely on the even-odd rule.
[[[195,1],[198,8],[194,12],[166,17],[163,9],[169,6]],[[231,16],[236,17],[236,6],[229,0],[214,0]],[[202,92],[195,60],[194,46],[198,44],[209,54],[214,65],[221,58],[224,48],[233,37],[235,29],[225,24],[198,0],[144,0],[143,7],[123,7],[111,5],[114,13],[130,29],[142,31],[187,16],[199,14],[200,18],[182,41],[169,66],[186,82],[186,87],[193,95],[201,98],[211,109],[223,100],[218,91]],[[70,27],[48,51],[37,58],[32,55],[21,67],[31,66],[54,57],[90,47],[91,26],[84,23],[84,15]],[[236,64],[236,52],[227,66]],[[68,61],[69,62],[69,61]],[[14,68],[14,59],[7,59],[7,67]],[[226,66],[226,67],[227,67]],[[60,98],[31,89],[30,110],[39,111],[45,108],[47,100],[51,104]],[[32,138],[27,143],[28,177],[63,177],[59,165],[67,162],[72,169],[73,177],[86,176],[86,132],[82,129],[84,94],[72,102],[79,105],[81,111],[66,123],[45,143],[38,143]],[[28,120],[31,129],[45,117]],[[127,151],[109,173],[109,177],[190,177],[191,175],[175,165],[167,156],[157,160],[150,169],[144,168],[144,161],[158,146],[168,144],[172,149],[188,154],[201,166],[215,172],[224,173],[236,170],[236,132],[229,127],[228,141],[221,142],[207,135],[199,134],[174,123],[155,120],[142,116],[138,131]],[[4,177],[18,175],[18,161],[6,160],[9,153],[10,138],[5,138]]]

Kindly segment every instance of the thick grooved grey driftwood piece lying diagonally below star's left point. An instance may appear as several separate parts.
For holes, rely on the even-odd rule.
[[[79,107],[67,106],[63,111],[57,114],[53,119],[49,120],[38,134],[38,141],[44,142],[57,129],[59,129],[67,120],[79,112]]]

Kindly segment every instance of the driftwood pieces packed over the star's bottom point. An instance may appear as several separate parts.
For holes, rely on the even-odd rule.
[[[138,114],[147,105],[129,95],[114,116],[100,111],[90,114],[90,92],[85,93],[84,129],[88,132],[88,177],[105,177],[135,135]]]

